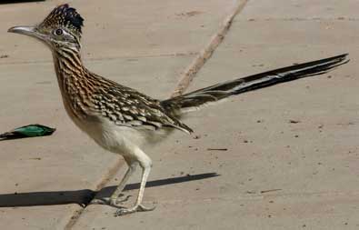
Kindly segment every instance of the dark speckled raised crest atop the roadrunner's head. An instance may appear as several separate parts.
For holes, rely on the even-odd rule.
[[[68,4],[58,5],[47,15],[40,27],[57,27],[64,26],[76,35],[81,36],[81,27],[84,25],[84,18],[78,14],[75,8]]]

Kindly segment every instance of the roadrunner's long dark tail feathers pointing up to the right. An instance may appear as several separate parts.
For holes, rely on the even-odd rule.
[[[182,114],[199,109],[202,105],[217,102],[231,95],[239,95],[247,91],[276,85],[311,75],[323,75],[337,67],[349,62],[348,54],[308,62],[299,65],[291,65],[274,69],[257,75],[237,78],[217,85],[205,87],[194,92],[179,95],[161,102],[166,109]]]

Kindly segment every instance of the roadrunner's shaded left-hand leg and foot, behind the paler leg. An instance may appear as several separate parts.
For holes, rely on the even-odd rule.
[[[121,192],[124,190],[125,185],[128,181],[128,179],[131,177],[131,175],[134,174],[136,166],[138,165],[138,162],[131,160],[130,158],[124,157],[125,158],[125,162],[128,165],[128,169],[124,175],[124,177],[122,178],[120,184],[116,187],[115,192],[111,195],[111,197],[108,199],[94,199],[91,204],[96,204],[96,205],[117,205],[118,202],[125,202],[128,199],[128,196],[125,197],[124,200],[118,201],[118,197],[120,196]]]

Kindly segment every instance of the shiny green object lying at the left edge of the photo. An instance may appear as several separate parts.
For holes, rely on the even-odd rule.
[[[0,135],[1,139],[15,139],[34,136],[52,135],[55,132],[55,128],[51,128],[45,125],[25,125],[15,128],[10,132],[6,132]]]

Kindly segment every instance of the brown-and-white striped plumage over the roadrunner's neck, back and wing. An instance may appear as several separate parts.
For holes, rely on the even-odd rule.
[[[82,65],[79,51],[66,47],[58,49],[54,62],[65,107],[76,119],[101,115],[115,125],[149,130],[171,126],[192,132],[167,113],[160,101],[91,73]]]

